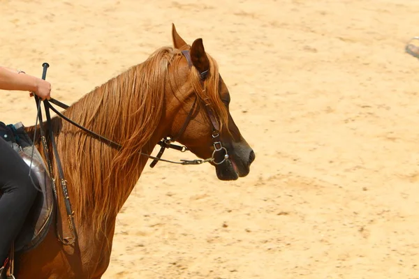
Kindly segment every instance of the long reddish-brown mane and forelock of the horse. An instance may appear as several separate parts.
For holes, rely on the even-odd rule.
[[[166,84],[173,84],[168,68],[181,55],[172,47],[162,47],[145,62],[96,87],[64,113],[95,133],[119,142],[121,150],[112,149],[69,123],[60,126],[61,121],[54,119],[58,151],[75,197],[71,200],[75,220],[83,222],[88,218],[97,234],[105,232],[106,220],[116,216],[140,176],[139,151],[153,148],[145,145],[161,120]],[[218,66],[210,55],[208,59],[206,90],[195,68],[191,70],[191,83],[201,103],[212,105],[222,126],[228,121],[228,112],[219,98]],[[57,176],[56,166],[54,174]],[[84,215],[87,207],[89,216]]]

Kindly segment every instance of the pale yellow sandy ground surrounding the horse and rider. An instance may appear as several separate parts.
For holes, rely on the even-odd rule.
[[[172,22],[219,62],[251,173],[146,168],[104,278],[413,279],[418,14],[413,0],[0,0],[0,65],[49,62],[54,98],[73,103],[170,45]],[[34,123],[34,100],[3,92],[0,119]]]

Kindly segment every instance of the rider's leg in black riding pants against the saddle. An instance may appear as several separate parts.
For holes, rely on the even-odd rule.
[[[35,175],[32,175],[37,183]],[[11,243],[19,234],[37,194],[29,167],[13,148],[0,137],[0,267],[8,256]]]

